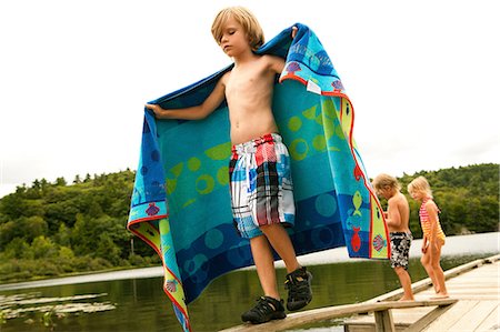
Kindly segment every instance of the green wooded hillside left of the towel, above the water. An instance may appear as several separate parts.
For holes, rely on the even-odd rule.
[[[36,180],[0,199],[0,282],[158,264],[126,229],[134,172]]]

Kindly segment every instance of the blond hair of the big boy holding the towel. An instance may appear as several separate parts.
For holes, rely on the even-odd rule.
[[[264,43],[263,31],[257,18],[253,16],[253,13],[250,12],[250,10],[239,6],[222,9],[213,20],[212,36],[216,39],[217,43],[220,44],[220,40],[222,38],[222,29],[224,28],[224,24],[229,18],[233,18],[238,23],[241,24],[241,27],[243,27],[252,50],[257,50]]]

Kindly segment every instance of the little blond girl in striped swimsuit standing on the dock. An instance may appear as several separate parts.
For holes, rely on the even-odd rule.
[[[440,265],[441,247],[446,235],[439,223],[438,205],[432,200],[432,191],[429,182],[423,177],[418,177],[408,184],[408,192],[413,200],[422,202],[420,205],[420,225],[423,232],[421,263],[432,280],[437,295],[432,299],[448,298],[444,284],[444,273]]]

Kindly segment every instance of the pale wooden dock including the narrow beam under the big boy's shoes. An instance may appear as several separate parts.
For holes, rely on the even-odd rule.
[[[366,302],[289,314],[264,324],[242,324],[223,332],[284,331],[337,318],[344,331],[500,331],[500,254],[444,272],[449,299],[434,295],[431,281],[412,284],[416,301],[398,302],[402,289]]]

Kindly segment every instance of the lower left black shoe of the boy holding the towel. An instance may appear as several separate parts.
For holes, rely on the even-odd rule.
[[[282,320],[286,316],[283,300],[278,301],[270,296],[260,296],[256,306],[243,313],[241,320],[252,324],[261,324],[270,320]]]

